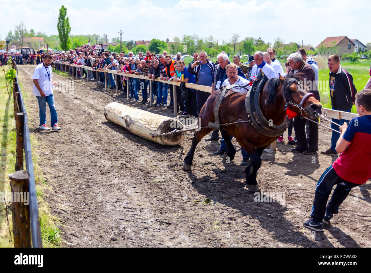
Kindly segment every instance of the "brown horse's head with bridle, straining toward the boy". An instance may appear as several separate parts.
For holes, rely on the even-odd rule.
[[[299,117],[314,119],[316,115],[322,114],[322,105],[303,84],[302,75],[302,73],[298,73],[288,75],[285,78],[280,76],[282,95],[291,111],[294,111]]]

